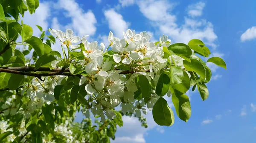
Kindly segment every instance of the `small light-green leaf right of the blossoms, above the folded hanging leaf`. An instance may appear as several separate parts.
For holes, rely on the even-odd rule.
[[[171,85],[180,84],[183,79],[183,71],[180,67],[170,67]]]

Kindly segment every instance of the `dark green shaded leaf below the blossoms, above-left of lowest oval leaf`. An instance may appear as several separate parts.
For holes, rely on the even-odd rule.
[[[146,76],[138,75],[136,77],[135,83],[138,88],[140,88],[142,98],[148,96],[151,93],[151,87]]]

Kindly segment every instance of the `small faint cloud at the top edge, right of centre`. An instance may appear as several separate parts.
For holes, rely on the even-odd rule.
[[[199,2],[188,6],[188,14],[191,17],[199,17],[202,15],[205,3]]]

